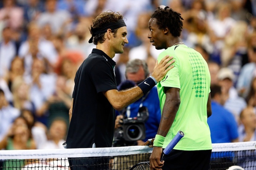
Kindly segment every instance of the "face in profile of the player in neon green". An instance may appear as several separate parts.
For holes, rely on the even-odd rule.
[[[158,28],[156,18],[151,18],[148,21],[148,28],[149,28],[148,38],[152,43],[152,45],[154,45],[156,49],[163,49],[164,48],[163,41],[161,40],[163,31]]]

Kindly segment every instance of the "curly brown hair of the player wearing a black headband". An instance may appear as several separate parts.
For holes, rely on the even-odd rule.
[[[90,27],[90,33],[94,36],[93,44],[97,45],[98,43],[103,43],[105,41],[104,33],[94,34],[96,30],[102,28],[104,25],[110,22],[117,22],[119,19],[123,19],[123,15],[120,12],[106,11],[98,15],[95,19],[92,20],[92,25]],[[117,28],[118,29],[118,28]],[[117,29],[111,30],[116,36]]]

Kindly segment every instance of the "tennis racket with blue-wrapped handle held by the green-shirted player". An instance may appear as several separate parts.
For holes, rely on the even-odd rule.
[[[175,145],[180,141],[181,138],[183,138],[184,133],[182,131],[179,131],[174,138],[171,140],[171,142],[167,145],[167,147],[163,151],[163,155],[161,158],[161,161],[164,159],[165,155],[168,155],[172,149],[175,147]],[[146,170],[149,169],[149,161],[147,162],[140,162],[133,167],[130,168],[130,170]]]

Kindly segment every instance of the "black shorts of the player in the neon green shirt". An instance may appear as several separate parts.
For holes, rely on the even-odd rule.
[[[208,170],[212,150],[172,150],[164,158],[163,170]]]

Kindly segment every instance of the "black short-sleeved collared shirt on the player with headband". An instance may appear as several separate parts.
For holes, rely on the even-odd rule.
[[[67,148],[112,146],[115,112],[102,91],[117,89],[115,65],[103,51],[93,49],[77,70]]]

